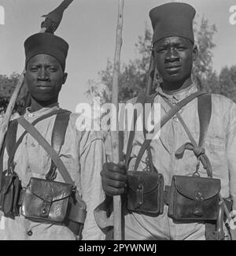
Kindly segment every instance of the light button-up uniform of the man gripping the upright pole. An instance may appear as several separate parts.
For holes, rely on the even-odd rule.
[[[168,98],[175,105],[196,91],[197,87],[194,84],[175,95],[166,95],[159,89],[154,102],[160,103],[161,117],[170,109],[164,102],[164,98]],[[131,102],[135,103],[136,98]],[[198,143],[200,126],[197,98],[184,106],[179,113]],[[130,170],[134,169],[135,160],[143,141],[143,132],[135,132]],[[177,117],[171,118],[161,128],[160,139],[152,141],[153,164],[158,172],[163,174],[165,185],[171,185],[173,175],[192,176],[195,172],[197,158],[193,151],[186,150],[181,159],[175,157],[176,150],[187,142],[190,142],[190,139]],[[124,139],[124,153],[126,153],[126,149],[127,132]],[[231,196],[234,202],[233,207],[236,210],[236,104],[223,95],[212,95],[212,117],[205,140],[205,152],[212,164],[213,177],[221,180],[221,195],[223,198]],[[138,170],[142,171],[145,168],[146,154],[144,154]],[[199,173],[203,177],[207,176],[202,165]],[[102,207],[98,207],[96,210],[96,217],[100,227],[105,228],[106,225],[111,224],[112,217],[108,220],[104,209],[101,209]],[[158,217],[127,213],[125,215],[125,239],[205,239],[203,223],[177,223],[168,217],[167,212],[168,206],[164,206],[164,214]]]

